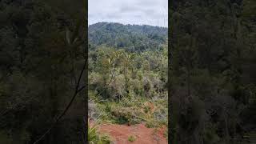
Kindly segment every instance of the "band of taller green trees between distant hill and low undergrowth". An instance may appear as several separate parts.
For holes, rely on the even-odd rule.
[[[90,57],[90,90],[102,98],[113,99],[129,94],[144,97],[164,94],[167,61],[162,55],[163,50],[142,54],[104,46],[90,50],[90,56],[94,56]]]

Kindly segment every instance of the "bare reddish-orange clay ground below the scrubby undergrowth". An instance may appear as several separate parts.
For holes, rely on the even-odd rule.
[[[167,144],[164,137],[166,129],[147,128],[144,124],[134,126],[104,124],[99,126],[99,130],[109,134],[114,144]],[[134,142],[130,142],[128,138],[133,136]]]

